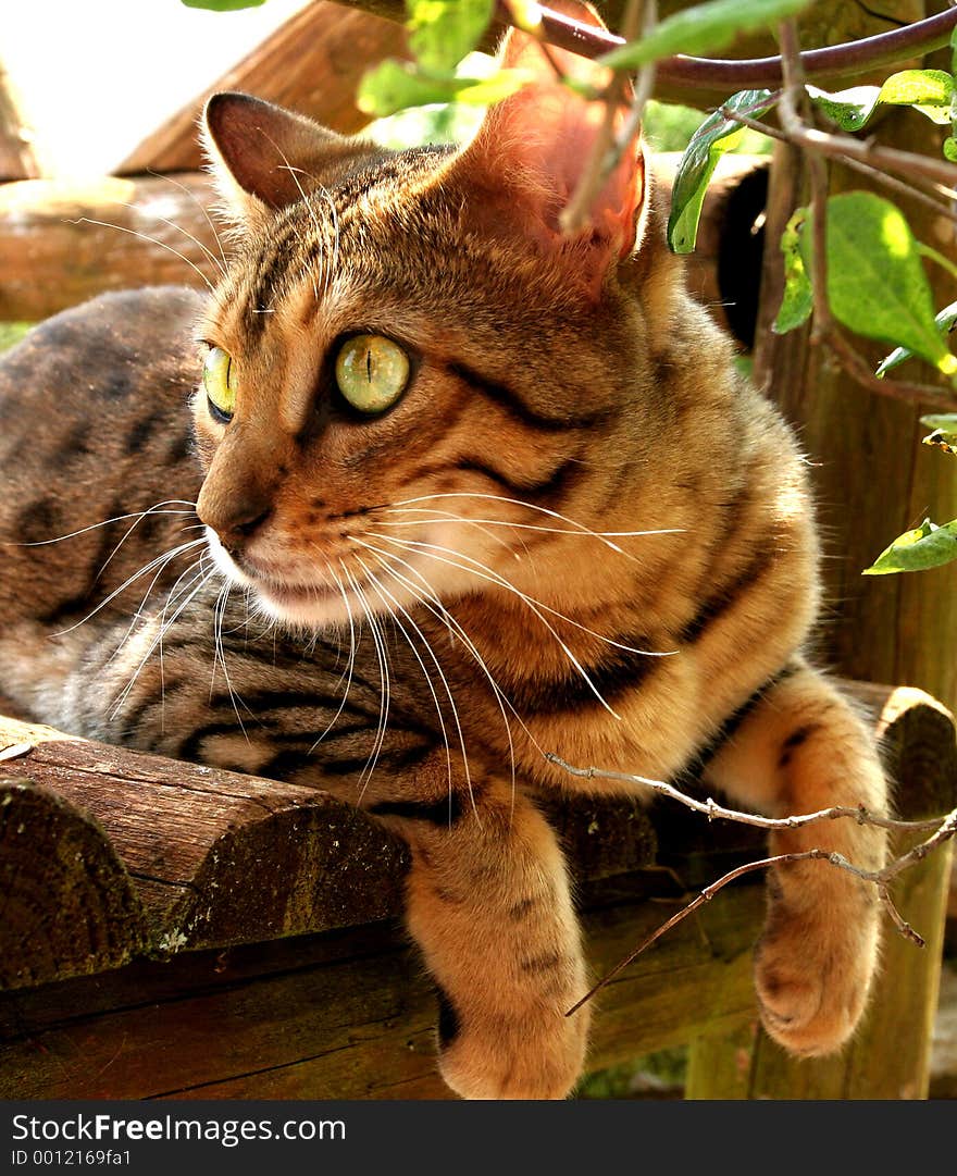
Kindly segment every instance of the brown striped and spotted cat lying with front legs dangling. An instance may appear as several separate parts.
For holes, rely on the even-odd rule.
[[[644,147],[564,236],[601,107],[526,34],[503,55],[534,80],[459,148],[209,100],[234,246],[212,295],[105,295],[2,361],[0,682],[40,721],[386,822],[410,848],[447,1083],[563,1098],[589,981],[536,796],[627,786],[546,751],[654,779],[704,764],[772,815],[881,811],[885,782],[802,653],[805,461],[685,292]],[[771,837],[812,846],[885,853],[854,822]],[[858,878],[770,871],[769,1034],[839,1048],[877,941]]]

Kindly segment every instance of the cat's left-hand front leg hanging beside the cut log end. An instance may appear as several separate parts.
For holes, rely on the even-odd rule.
[[[510,782],[448,802],[446,763],[415,802],[379,801],[411,849],[407,917],[440,989],[440,1068],[466,1098],[563,1098],[589,1014],[580,931],[551,828]],[[435,802],[422,802],[422,794]]]

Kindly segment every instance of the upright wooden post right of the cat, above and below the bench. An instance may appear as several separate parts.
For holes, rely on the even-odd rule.
[[[844,9],[848,20],[859,20],[852,5],[843,6],[842,16]],[[901,2],[891,15],[918,19],[924,6]],[[859,27],[844,32],[838,24],[834,40],[861,34]],[[885,118],[877,138],[909,151],[939,152],[939,133],[914,112]],[[858,173],[832,167],[831,192],[852,188],[882,192]],[[918,443],[926,432],[918,417],[929,409],[861,388],[825,348],[809,345],[807,328],[783,336],[771,330],[782,290],[781,233],[794,208],[805,200],[803,160],[791,148],[778,148],[767,212],[755,377],[797,426],[812,461],[826,552],[828,604],[819,634],[824,659],[855,679],[919,686],[952,708],[957,700],[953,568],[899,576],[861,575],[892,539],[925,515],[938,522],[957,516],[953,468],[933,460],[942,455]],[[952,254],[950,222],[917,202],[901,201],[901,207],[918,239]],[[945,281],[941,272],[930,269],[929,275],[937,287],[938,305],[951,301],[950,279]],[[875,367],[889,349],[864,340],[855,340],[855,345]],[[933,376],[922,370],[921,379],[932,382]],[[941,811],[928,806],[914,775],[899,781],[895,791],[908,816],[923,815],[929,807]],[[836,1058],[796,1062],[759,1035],[749,1078],[751,1097],[926,1096],[929,1022],[939,983],[948,862],[949,854],[938,853],[901,878],[895,901],[904,918],[925,936],[928,947],[919,951],[899,941],[892,929],[886,931],[877,990],[852,1044]],[[892,1055],[885,1048],[889,1038],[896,1043]],[[709,1062],[729,1071],[735,1058],[725,1050],[718,1062],[712,1049]]]

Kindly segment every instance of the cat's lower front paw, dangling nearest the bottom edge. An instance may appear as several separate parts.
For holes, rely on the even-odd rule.
[[[470,1029],[443,1009],[439,1068],[462,1098],[567,1098],[584,1064],[589,1015],[562,1010]]]

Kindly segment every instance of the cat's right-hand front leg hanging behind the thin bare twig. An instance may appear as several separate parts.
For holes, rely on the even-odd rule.
[[[866,726],[803,662],[749,711],[705,781],[741,806],[782,817],[832,806],[883,814],[884,774]],[[836,850],[855,866],[884,863],[885,834],[854,818],[776,831],[770,853]],[[823,861],[775,867],[755,983],[768,1033],[796,1054],[838,1049],[864,1008],[877,963],[874,884]]]

